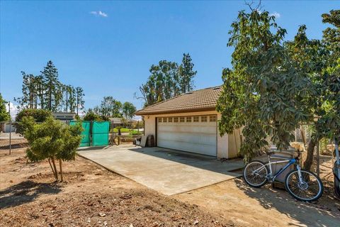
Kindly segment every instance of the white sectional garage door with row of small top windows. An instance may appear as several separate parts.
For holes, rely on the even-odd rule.
[[[157,146],[216,156],[216,115],[157,118]]]

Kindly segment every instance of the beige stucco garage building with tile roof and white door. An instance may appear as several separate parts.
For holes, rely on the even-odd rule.
[[[145,135],[154,135],[155,145],[217,158],[237,157],[241,135],[220,136],[216,111],[221,87],[181,94],[136,112],[145,120]]]

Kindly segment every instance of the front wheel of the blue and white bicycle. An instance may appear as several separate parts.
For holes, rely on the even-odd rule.
[[[324,186],[321,179],[307,170],[300,170],[300,181],[297,170],[290,171],[285,177],[285,189],[300,201],[315,201],[322,196]]]

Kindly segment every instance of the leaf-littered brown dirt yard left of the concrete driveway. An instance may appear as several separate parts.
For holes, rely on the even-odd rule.
[[[28,163],[24,150],[0,150],[0,226],[236,226],[81,157],[55,183],[48,162]]]

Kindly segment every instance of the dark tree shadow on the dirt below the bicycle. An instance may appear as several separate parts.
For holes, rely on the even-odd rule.
[[[321,199],[312,203],[297,201],[285,192],[285,189],[272,189],[271,186],[252,188],[243,179],[234,179],[237,187],[252,199],[259,201],[265,209],[276,209],[301,223],[290,226],[339,226],[340,201],[324,194]]]

